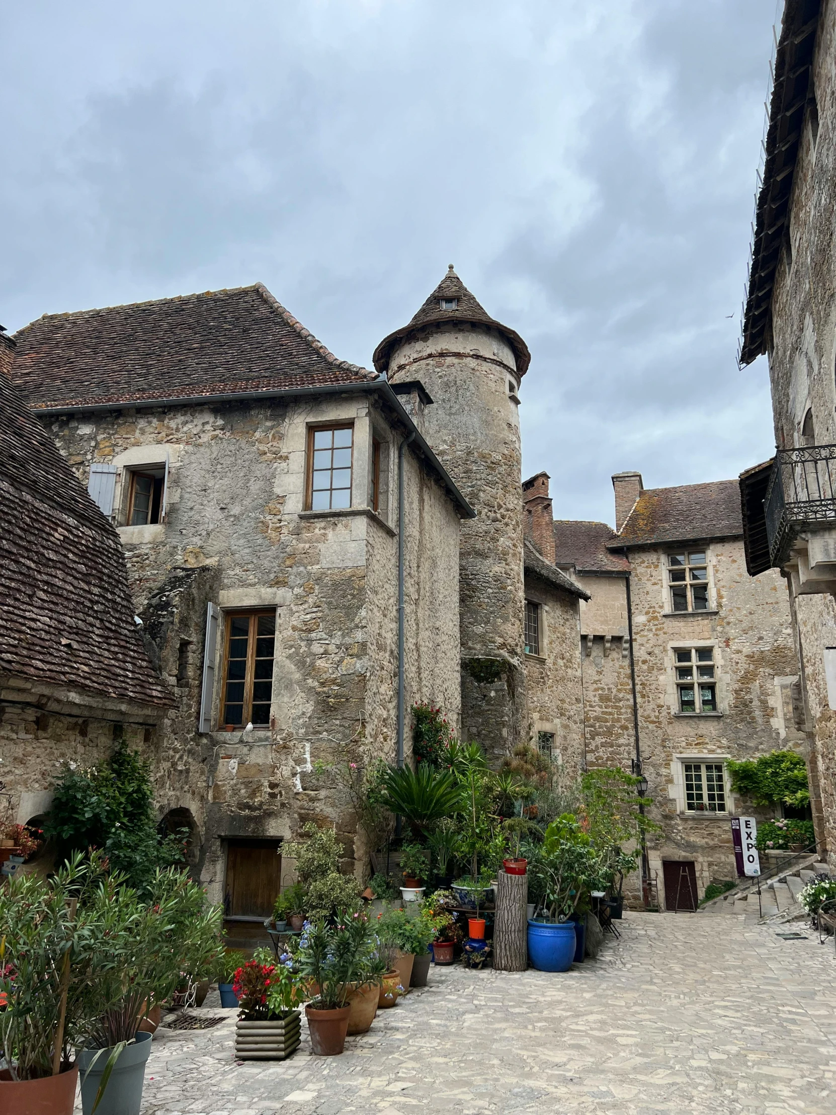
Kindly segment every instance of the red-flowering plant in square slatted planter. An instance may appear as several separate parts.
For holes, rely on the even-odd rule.
[[[241,1014],[235,1024],[237,1060],[284,1060],[301,1040],[303,1000],[293,960],[283,953],[274,961],[266,949],[257,949],[252,960],[235,973],[234,990]]]

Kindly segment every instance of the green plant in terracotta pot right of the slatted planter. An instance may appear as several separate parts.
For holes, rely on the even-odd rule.
[[[362,914],[349,914],[336,924],[324,920],[305,922],[299,948],[299,970],[317,988],[304,1008],[311,1048],[320,1057],[341,1054],[346,1046],[351,1011],[348,997],[362,973],[369,946],[368,923]]]

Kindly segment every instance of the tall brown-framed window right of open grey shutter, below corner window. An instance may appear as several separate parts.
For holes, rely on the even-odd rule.
[[[221,724],[270,724],[273,699],[275,611],[226,615]]]

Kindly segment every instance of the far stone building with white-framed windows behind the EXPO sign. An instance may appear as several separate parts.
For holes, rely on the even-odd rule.
[[[667,909],[735,879],[728,759],[804,748],[780,578],[746,572],[735,481],[645,489],[613,476],[615,525],[558,521],[555,561],[581,604],[589,766],[639,769],[661,833],[650,878]],[[631,648],[632,629],[632,648]],[[634,679],[634,681],[633,681]]]

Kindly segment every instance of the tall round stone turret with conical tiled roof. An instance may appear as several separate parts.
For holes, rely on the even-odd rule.
[[[461,737],[498,757],[527,738],[523,669],[519,381],[531,356],[453,264],[409,324],[375,351],[392,385],[420,381],[424,436],[476,510],[459,549]]]

